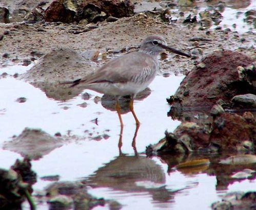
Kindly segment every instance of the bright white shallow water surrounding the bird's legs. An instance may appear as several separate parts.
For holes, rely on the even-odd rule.
[[[1,72],[12,75],[23,73],[31,66],[9,66]],[[165,160],[158,157],[146,158],[146,146],[154,144],[164,136],[165,130],[173,131],[179,121],[167,117],[169,105],[166,98],[173,95],[183,76],[168,78],[157,76],[149,86],[151,94],[134,104],[135,112],[141,121],[136,137],[137,155],[131,146],[135,131],[131,113],[123,114],[124,132],[122,155],[118,143],[120,126],[117,114],[94,103],[94,96],[86,101],[88,106],[77,106],[84,100],[80,96],[65,103],[48,99],[44,92],[32,85],[12,77],[0,79],[0,145],[10,141],[25,127],[41,128],[54,135],[70,133],[76,135],[64,145],[32,161],[32,169],[37,173],[34,193],[42,191],[51,181],[40,179],[43,176],[60,175],[60,180],[87,180],[97,183],[89,193],[98,198],[119,201],[122,209],[210,209],[214,201],[221,200],[226,192],[249,191],[256,189],[256,180],[235,181],[227,188],[216,190],[216,176],[205,170],[185,173],[170,170]],[[15,100],[27,98],[25,103]],[[68,109],[64,108],[68,107]],[[98,125],[94,119],[98,119]],[[91,133],[91,134],[89,134]],[[92,137],[107,134],[100,141]],[[78,138],[77,138],[78,136]],[[0,149],[0,166],[8,169],[21,155]],[[115,178],[113,178],[115,177]],[[92,185],[93,186],[93,185]],[[28,204],[25,204],[28,209]],[[38,204],[38,209],[48,209],[47,203]],[[94,209],[106,209],[97,206]]]

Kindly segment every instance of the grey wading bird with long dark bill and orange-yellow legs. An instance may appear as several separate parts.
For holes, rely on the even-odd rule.
[[[115,96],[115,109],[119,116],[121,127],[123,127],[123,121],[120,113],[119,98],[130,95],[129,109],[134,116],[136,125],[139,126],[140,121],[133,110],[133,99],[137,93],[144,90],[153,81],[159,70],[158,57],[166,51],[191,57],[168,46],[163,37],[151,35],[142,42],[138,52],[115,58],[84,78],[65,83],[72,84],[71,87],[77,85],[80,88]]]

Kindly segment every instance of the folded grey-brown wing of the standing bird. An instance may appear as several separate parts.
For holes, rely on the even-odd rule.
[[[156,69],[157,63],[152,57],[140,52],[129,53],[111,60],[95,73],[82,78],[79,83],[93,84],[106,81],[125,83],[130,80],[138,80],[143,75],[146,78],[145,75],[150,76]]]

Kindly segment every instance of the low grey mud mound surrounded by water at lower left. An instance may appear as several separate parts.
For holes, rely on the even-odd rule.
[[[40,129],[25,128],[12,141],[5,142],[3,148],[31,159],[38,159],[61,146],[61,139],[54,138]]]

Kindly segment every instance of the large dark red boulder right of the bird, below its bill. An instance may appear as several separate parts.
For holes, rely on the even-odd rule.
[[[183,107],[210,108],[220,99],[229,102],[236,95],[253,93],[253,85],[241,80],[237,69],[251,64],[253,59],[238,52],[216,51],[202,62],[205,67],[192,69],[174,95]]]

